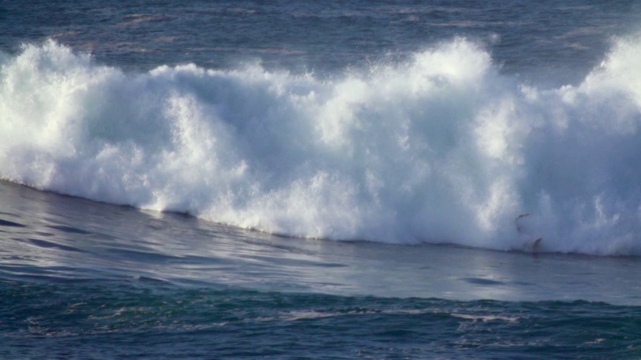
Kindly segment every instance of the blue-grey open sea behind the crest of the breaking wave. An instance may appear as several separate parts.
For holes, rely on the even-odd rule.
[[[640,12],[636,1],[585,0],[7,1],[0,47],[55,38],[125,69],[260,59],[331,74],[464,36],[487,44],[505,72],[563,85],[603,60],[610,37],[637,31]]]

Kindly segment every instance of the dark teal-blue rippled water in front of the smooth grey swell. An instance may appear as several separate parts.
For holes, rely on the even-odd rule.
[[[638,307],[2,282],[6,358],[634,359]]]

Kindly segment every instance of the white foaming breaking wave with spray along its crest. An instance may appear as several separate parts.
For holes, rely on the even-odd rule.
[[[0,177],[294,236],[641,254],[639,58],[619,40],[540,90],[463,39],[335,79],[26,45],[2,60]]]

